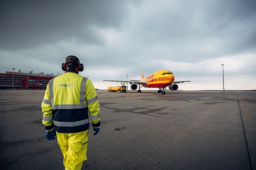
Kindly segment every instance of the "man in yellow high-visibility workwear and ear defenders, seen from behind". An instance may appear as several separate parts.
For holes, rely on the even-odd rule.
[[[80,170],[87,160],[89,116],[94,134],[100,131],[100,105],[92,82],[78,73],[84,70],[70,55],[62,64],[64,74],[49,81],[42,102],[46,138],[57,136],[65,169]],[[89,115],[88,115],[89,113]]]

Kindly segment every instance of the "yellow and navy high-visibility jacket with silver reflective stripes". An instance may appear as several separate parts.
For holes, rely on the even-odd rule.
[[[76,133],[89,129],[89,115],[94,127],[100,126],[100,105],[92,82],[75,70],[50,80],[42,102],[46,130]]]

